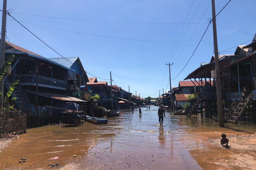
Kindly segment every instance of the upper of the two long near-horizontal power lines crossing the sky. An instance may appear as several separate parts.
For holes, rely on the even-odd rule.
[[[107,23],[125,23],[125,24],[189,24],[189,23],[154,23],[154,22],[100,21],[100,20],[84,20],[84,19],[74,19],[74,18],[50,17],[50,16],[23,14],[23,13],[15,13],[15,12],[12,12],[12,13],[13,13],[13,14],[21,14],[21,15],[36,16],[36,17],[45,17],[45,18],[55,18],[55,19],[65,19],[65,20],[76,20],[76,21],[91,21],[91,22],[107,22]],[[190,23],[190,24],[208,24],[208,23]]]

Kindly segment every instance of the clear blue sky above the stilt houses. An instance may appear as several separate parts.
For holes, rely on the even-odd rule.
[[[228,2],[228,0],[215,1],[216,13]],[[179,41],[183,36],[183,40],[186,41],[190,38],[197,24],[185,24],[182,29],[183,24],[78,21],[15,13],[96,21],[184,23],[192,2],[193,0],[74,0],[72,2],[65,0],[12,0],[7,2],[7,9],[13,10],[11,15],[18,21],[56,29],[116,38],[154,41],[177,41],[181,33]],[[190,21],[198,23],[210,2],[211,0],[194,0],[186,23]],[[196,10],[197,6],[198,9]],[[255,6],[255,0],[232,0],[217,17],[217,24],[255,34]],[[208,18],[212,18],[211,5],[203,16],[201,23],[207,23]],[[7,17],[7,19],[11,18]],[[63,56],[79,56],[87,72],[101,78],[110,79],[109,71],[111,71],[112,79],[118,86],[128,91],[128,85],[130,85],[131,92],[135,94],[135,91],[137,91],[137,94],[142,94],[141,97],[157,97],[159,95],[157,90],[162,90],[163,88],[166,90],[169,72],[167,72],[168,69],[165,63],[167,61],[174,62],[171,75],[172,78],[176,77],[199,42],[189,41],[186,44],[186,42],[122,40],[65,32],[30,24],[24,24],[24,26]],[[16,22],[7,20],[6,27],[7,37],[10,42],[47,58],[60,57]],[[206,27],[207,24],[198,24],[190,40],[201,39]],[[220,26],[217,26],[217,34],[218,47],[223,50],[253,39],[253,35]],[[187,67],[175,80],[172,80],[172,87],[177,87],[178,81],[183,80],[190,72],[199,67],[201,62],[210,61],[211,55],[213,55],[213,46],[210,45],[213,44],[212,24],[207,30],[203,41],[205,42],[201,42]],[[186,46],[184,47],[185,44]],[[232,48],[227,51],[234,50],[235,48]],[[172,55],[170,56],[171,53]],[[223,53],[233,54],[234,52]],[[168,60],[169,56],[171,60]],[[175,60],[175,58],[177,59]],[[90,75],[88,76],[90,77]]]

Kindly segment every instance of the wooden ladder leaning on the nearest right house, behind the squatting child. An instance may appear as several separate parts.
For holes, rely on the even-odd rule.
[[[232,122],[233,124],[236,124],[239,120],[239,118],[243,115],[245,112],[247,106],[250,104],[250,101],[252,100],[253,92],[245,99],[243,100],[243,97],[241,97],[236,105],[230,110],[229,114],[226,116],[227,122]]]

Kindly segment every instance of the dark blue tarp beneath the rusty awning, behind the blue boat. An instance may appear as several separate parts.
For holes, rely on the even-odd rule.
[[[80,107],[80,105],[78,105],[74,102],[67,102],[67,103],[58,102],[55,104],[54,108],[52,109],[52,113],[53,114],[63,114],[62,112],[67,111],[66,109],[82,111],[82,108]],[[81,115],[79,115],[79,116],[81,116]],[[73,117],[77,118],[76,113],[73,113]]]

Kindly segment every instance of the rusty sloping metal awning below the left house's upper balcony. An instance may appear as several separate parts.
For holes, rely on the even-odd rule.
[[[27,91],[26,90],[25,92],[36,94],[35,91]],[[78,99],[78,98],[75,98],[75,97],[70,97],[70,96],[67,96],[65,94],[60,94],[60,93],[38,92],[38,95],[48,97],[48,98],[51,98],[51,99],[55,99],[55,100],[61,100],[61,101],[87,102],[87,101],[84,101],[84,100],[81,100],[81,99]]]

